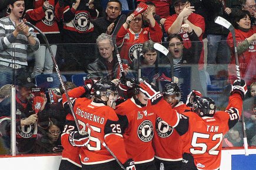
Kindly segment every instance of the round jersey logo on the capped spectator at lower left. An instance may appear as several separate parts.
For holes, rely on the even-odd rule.
[[[25,119],[26,118],[22,118],[21,120],[25,120]],[[32,135],[37,133],[36,124],[32,123],[29,125],[21,126],[17,132],[23,138],[30,138],[32,137]]]

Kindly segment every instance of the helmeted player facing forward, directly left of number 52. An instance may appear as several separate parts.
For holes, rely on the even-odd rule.
[[[164,100],[178,113],[190,111],[181,99],[181,91],[176,83],[165,84],[162,89]],[[182,164],[181,137],[175,128],[168,125],[160,117],[155,121],[155,136],[152,144],[155,151],[155,166],[157,169],[180,169]],[[172,144],[172,147],[169,147]]]

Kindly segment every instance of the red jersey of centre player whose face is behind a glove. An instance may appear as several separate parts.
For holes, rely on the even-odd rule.
[[[159,111],[159,108],[162,111]],[[116,113],[124,132],[127,155],[134,159],[135,164],[154,160],[152,138],[157,117],[161,117],[174,127],[179,121],[178,113],[164,100],[154,106],[151,106],[149,101],[147,106],[141,107],[135,103],[134,98],[130,98],[117,106]]]

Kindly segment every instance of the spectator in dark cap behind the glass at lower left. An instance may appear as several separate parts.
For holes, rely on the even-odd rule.
[[[34,86],[31,76],[27,73],[20,74],[16,78],[16,147],[18,154],[32,153],[35,147],[38,115],[33,110],[31,100],[32,87]],[[44,110],[46,101],[44,96],[44,103],[39,108],[40,111]],[[3,138],[6,147],[10,148],[11,96],[6,97],[0,103],[0,118],[2,119],[0,127],[4,130]]]

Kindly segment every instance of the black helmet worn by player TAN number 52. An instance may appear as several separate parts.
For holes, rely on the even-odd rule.
[[[200,97],[195,100],[194,111],[200,117],[213,117],[216,111],[215,101],[210,97]]]

